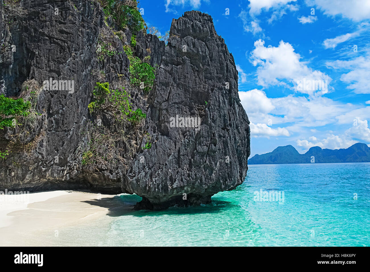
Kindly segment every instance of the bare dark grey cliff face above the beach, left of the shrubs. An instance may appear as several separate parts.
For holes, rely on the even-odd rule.
[[[55,8],[60,11],[58,15]],[[0,163],[0,188],[120,192],[120,175],[125,169],[92,172],[81,168],[81,156],[88,144],[86,131],[91,130],[94,121],[88,115],[97,81],[93,71],[105,70],[110,82],[117,79],[117,74],[128,77],[129,61],[124,54],[113,56],[103,65],[97,60],[98,36],[106,27],[103,10],[96,1],[77,0],[58,4],[46,0],[24,1],[24,10],[26,17],[0,27],[5,29],[2,34],[6,32],[4,47],[0,49],[3,86],[0,92],[16,97],[22,95],[21,85],[25,81],[34,79],[42,86],[44,80],[53,78],[74,80],[74,93],[41,91],[36,110],[42,116],[22,139],[24,145],[36,145],[36,150],[31,155],[23,150],[11,150]],[[0,18],[0,24],[3,22]],[[16,46],[14,53],[12,45]],[[123,51],[119,39],[117,47]],[[19,132],[4,128],[2,151],[16,133]]]

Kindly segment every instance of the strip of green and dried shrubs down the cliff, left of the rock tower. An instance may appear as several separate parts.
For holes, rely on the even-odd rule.
[[[145,22],[141,17],[135,0],[98,0],[104,9],[105,24],[100,30],[96,56],[99,60],[98,70],[92,72],[97,81],[92,91],[92,100],[88,110],[94,115],[95,121],[89,125],[86,133],[86,146],[81,150],[81,164],[86,169],[113,169],[117,162],[125,162],[138,148],[138,136],[141,135],[144,109],[136,108],[131,103],[134,99],[131,85],[136,90],[143,89],[148,93],[154,83],[154,68],[148,64],[150,56],[143,61],[135,56],[137,33],[144,28]],[[111,18],[112,24],[108,18]],[[127,30],[131,36],[127,35]],[[110,59],[122,54],[118,36],[129,59],[130,82],[122,78],[126,74],[118,73],[117,80],[107,81],[105,73],[112,71]],[[117,72],[116,72],[117,73]],[[142,94],[141,94],[142,95]],[[139,103],[140,104],[140,103]],[[104,120],[104,124],[102,124]],[[96,125],[97,124],[97,125]],[[147,137],[147,136],[143,136]],[[144,140],[143,140],[144,141]],[[146,141],[144,141],[146,142]]]

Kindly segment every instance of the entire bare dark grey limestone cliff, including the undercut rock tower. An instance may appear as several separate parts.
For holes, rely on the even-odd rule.
[[[151,66],[158,67],[154,87],[145,95],[128,84],[129,60],[122,52],[131,32],[117,34],[96,1],[24,1],[24,17],[10,23],[4,20],[3,0],[0,4],[0,94],[26,97],[24,83],[74,80],[73,92],[37,93],[35,110],[41,115],[25,125],[27,130],[0,131],[0,151],[12,147],[0,160],[0,191],[123,191],[143,197],[137,208],[163,209],[208,203],[213,194],[243,182],[249,121],[239,102],[233,57],[211,16],[189,11],[173,20],[167,46],[157,36],[137,33],[134,54],[141,60],[150,56]],[[117,54],[101,60],[98,42],[107,37]],[[117,125],[111,112],[89,114],[99,81],[125,85],[133,107],[146,111],[145,123]],[[86,166],[84,150],[97,137],[98,119],[99,135],[113,137],[113,147],[104,150],[110,163]],[[114,138],[121,131],[125,137]]]

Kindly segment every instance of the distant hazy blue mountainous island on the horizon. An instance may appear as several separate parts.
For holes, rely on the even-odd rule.
[[[266,154],[254,155],[248,159],[248,164],[304,164],[311,163],[312,156],[315,163],[370,162],[370,147],[358,142],[349,148],[335,150],[311,147],[305,154],[299,154],[292,145],[286,145]]]

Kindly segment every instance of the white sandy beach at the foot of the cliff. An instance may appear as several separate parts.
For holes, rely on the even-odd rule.
[[[128,208],[115,195],[91,192],[37,192],[27,196],[28,203],[10,197],[0,196],[0,246],[81,245],[81,239],[91,236],[102,239],[112,221],[108,213]],[[67,231],[89,224],[98,224],[101,232],[73,237]]]

